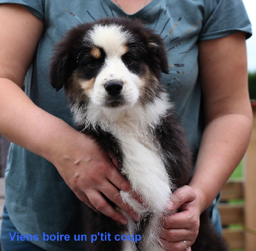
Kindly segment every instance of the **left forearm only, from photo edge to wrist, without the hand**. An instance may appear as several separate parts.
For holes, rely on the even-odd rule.
[[[76,133],[61,119],[37,107],[8,79],[0,79],[0,133],[37,155],[51,158],[54,139],[61,131]],[[65,135],[68,135],[65,133]]]

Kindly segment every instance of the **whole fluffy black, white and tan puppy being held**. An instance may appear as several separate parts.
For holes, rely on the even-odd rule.
[[[56,46],[51,84],[57,91],[65,87],[77,130],[118,159],[120,172],[147,205],[120,192],[140,216],[134,222],[124,213],[125,226],[92,211],[88,233],[125,234],[129,240],[87,241],[88,250],[163,250],[159,221],[175,189],[189,183],[191,154],[159,82],[161,72],[168,73],[163,40],[138,20],[81,24]],[[192,250],[228,250],[203,217]],[[134,234],[141,240],[132,241]]]

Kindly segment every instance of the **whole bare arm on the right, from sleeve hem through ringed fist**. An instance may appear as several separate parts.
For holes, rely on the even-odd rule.
[[[243,158],[252,130],[244,33],[200,42],[199,63],[206,126],[193,178],[172,199],[172,209],[182,211],[165,218],[166,250],[185,249],[183,240],[193,244],[200,214]]]

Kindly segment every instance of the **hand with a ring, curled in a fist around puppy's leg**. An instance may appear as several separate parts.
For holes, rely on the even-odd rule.
[[[172,206],[173,203],[173,206]],[[168,209],[177,213],[164,215],[160,231],[160,241],[165,250],[191,250],[200,225],[200,203],[198,196],[190,186],[177,189],[171,198]],[[187,245],[187,246],[186,246]]]

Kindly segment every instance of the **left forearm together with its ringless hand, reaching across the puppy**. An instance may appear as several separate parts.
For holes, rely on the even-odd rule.
[[[20,87],[1,78],[0,133],[49,160],[74,194],[90,208],[127,224],[127,218],[106,201],[104,194],[134,217],[134,211],[122,201],[119,193],[119,190],[129,192],[131,185],[108,154],[90,136],[40,109]]]

